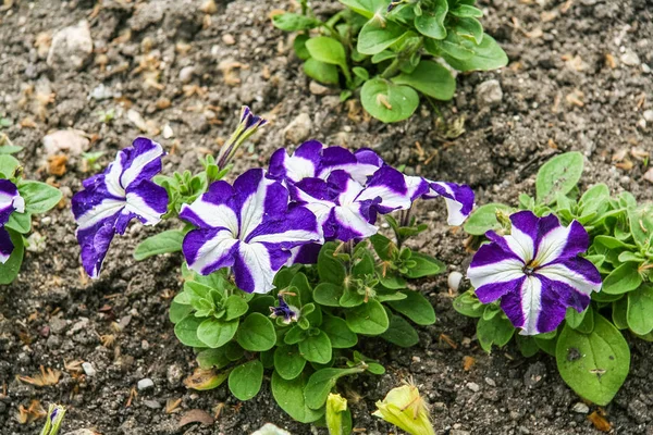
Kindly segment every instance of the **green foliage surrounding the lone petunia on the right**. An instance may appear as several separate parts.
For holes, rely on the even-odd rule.
[[[496,302],[481,303],[473,289],[461,294],[454,308],[479,319],[477,336],[484,350],[505,346],[515,337],[523,356],[540,350],[554,356],[560,376],[579,396],[605,406],[628,375],[630,350],[625,334],[653,341],[653,206],[638,204],[628,191],[613,196],[604,184],[580,195],[582,169],[578,152],[551,159],[538,173],[535,197],[520,195],[519,209],[540,216],[553,213],[565,225],[577,221],[584,226],[590,235],[584,258],[603,278],[588,309],[581,313],[568,309],[556,331],[521,336]],[[465,231],[480,240],[486,231],[509,232],[507,216],[513,211],[506,204],[482,206]]]

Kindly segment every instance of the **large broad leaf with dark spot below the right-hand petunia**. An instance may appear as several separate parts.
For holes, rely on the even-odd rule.
[[[594,331],[581,334],[565,326],[555,352],[563,380],[579,396],[606,406],[626,381],[630,349],[621,333],[605,318],[594,314]]]

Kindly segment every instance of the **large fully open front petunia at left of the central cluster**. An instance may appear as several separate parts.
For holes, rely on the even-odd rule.
[[[304,207],[288,209],[287,189],[259,169],[238,176],[233,187],[212,183],[182,207],[180,217],[198,227],[183,243],[188,268],[202,275],[233,268],[236,285],[247,293],[274,287],[291,248],[323,241],[316,216]]]

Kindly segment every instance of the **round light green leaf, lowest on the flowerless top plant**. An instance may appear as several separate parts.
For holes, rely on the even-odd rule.
[[[372,78],[362,85],[360,102],[370,115],[384,123],[393,123],[403,121],[415,112],[419,105],[419,96],[409,86]]]

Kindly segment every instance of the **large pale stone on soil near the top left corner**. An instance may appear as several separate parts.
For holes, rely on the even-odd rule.
[[[82,20],[74,26],[62,28],[52,37],[47,63],[54,69],[79,70],[93,53],[93,38],[88,22]]]

